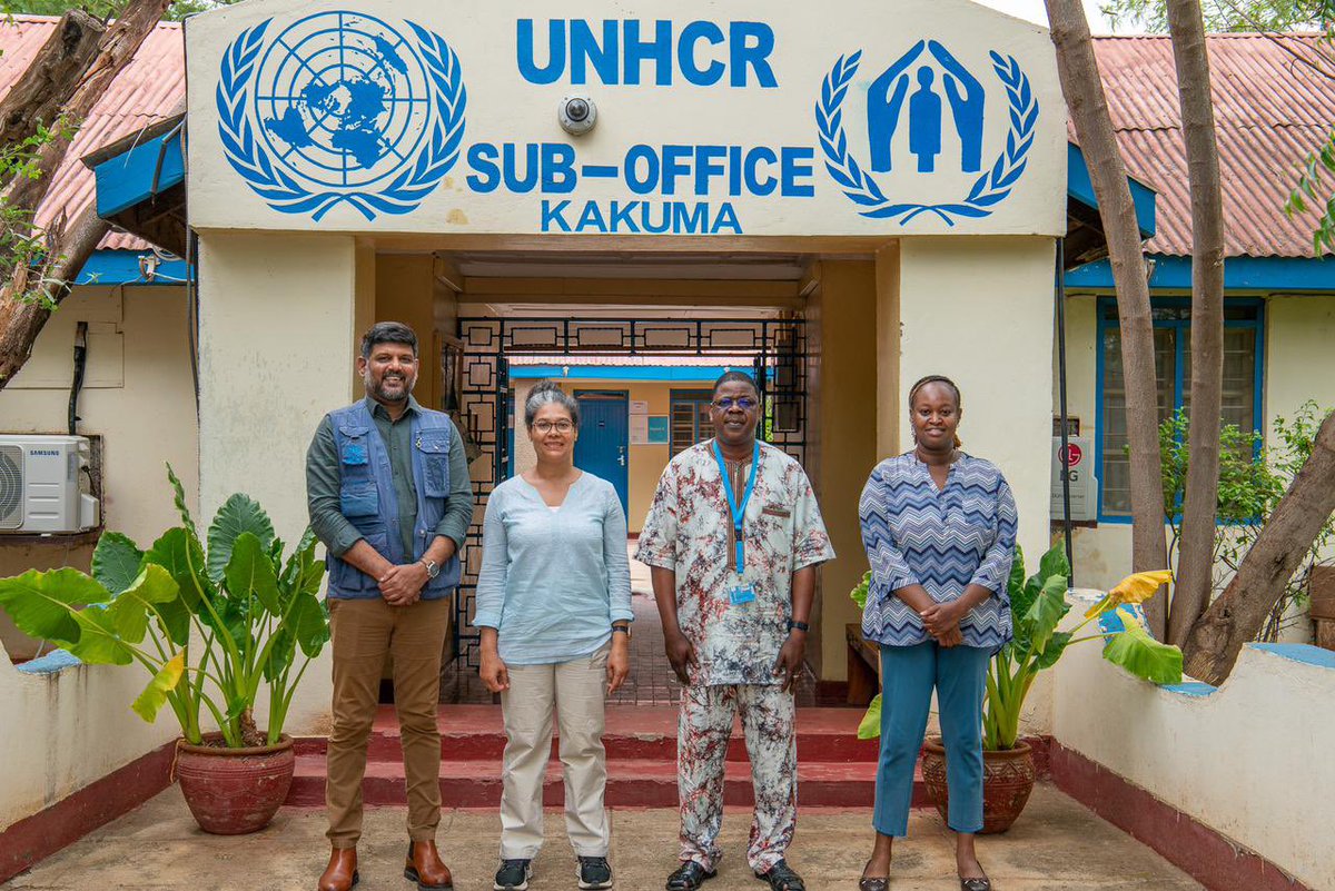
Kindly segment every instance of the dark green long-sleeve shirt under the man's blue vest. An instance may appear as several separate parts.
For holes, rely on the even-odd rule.
[[[394,421],[390,420],[384,405],[371,400],[371,419],[384,441],[384,450],[390,454],[405,554],[413,554],[413,527],[417,524],[411,416],[413,412],[421,411],[422,405],[409,396],[407,409]],[[306,452],[306,500],[311,514],[311,528],[332,556],[343,556],[358,539],[363,538],[339,511],[339,468],[334,425],[326,415]],[[463,454],[463,441],[455,433],[450,443],[450,498],[446,500],[445,516],[437,524],[435,534],[454,539],[455,547],[462,548],[471,522],[473,483],[469,479],[469,459]]]

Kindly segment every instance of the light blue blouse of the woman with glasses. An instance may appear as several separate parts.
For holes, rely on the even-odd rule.
[[[626,515],[611,483],[583,472],[555,511],[521,476],[493,490],[473,624],[497,630],[503,662],[587,656],[613,622],[634,618]]]

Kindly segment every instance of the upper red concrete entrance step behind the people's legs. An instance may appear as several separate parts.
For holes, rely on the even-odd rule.
[[[663,706],[609,706],[603,746],[609,762],[677,759],[676,707]],[[876,740],[857,739],[860,708],[798,708],[797,758],[798,762],[873,763],[877,758]],[[441,758],[446,762],[499,760],[506,736],[499,706],[442,706]],[[559,732],[553,734],[551,751],[559,747]],[[323,756],[324,738],[296,740],[299,756]],[[392,706],[382,706],[376,712],[367,747],[368,762],[399,762],[399,726]],[[734,723],[728,746],[728,760],[745,762],[746,744],[741,724]]]

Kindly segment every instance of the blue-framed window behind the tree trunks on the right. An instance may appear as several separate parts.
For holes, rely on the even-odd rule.
[[[1179,408],[1191,415],[1191,300],[1156,299],[1155,373],[1159,379],[1159,420]],[[1260,429],[1264,304],[1224,303],[1224,425]],[[1121,331],[1117,304],[1099,301],[1099,516],[1131,516],[1131,460],[1127,456],[1127,391],[1121,371]]]

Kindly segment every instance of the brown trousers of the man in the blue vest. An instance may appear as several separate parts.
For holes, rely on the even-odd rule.
[[[403,740],[409,794],[409,838],[435,839],[441,823],[441,648],[450,600],[391,607],[380,598],[331,599],[334,730],[330,732],[324,803],[336,848],[362,836],[362,775],[379,703],[384,656],[394,659],[394,707]]]

